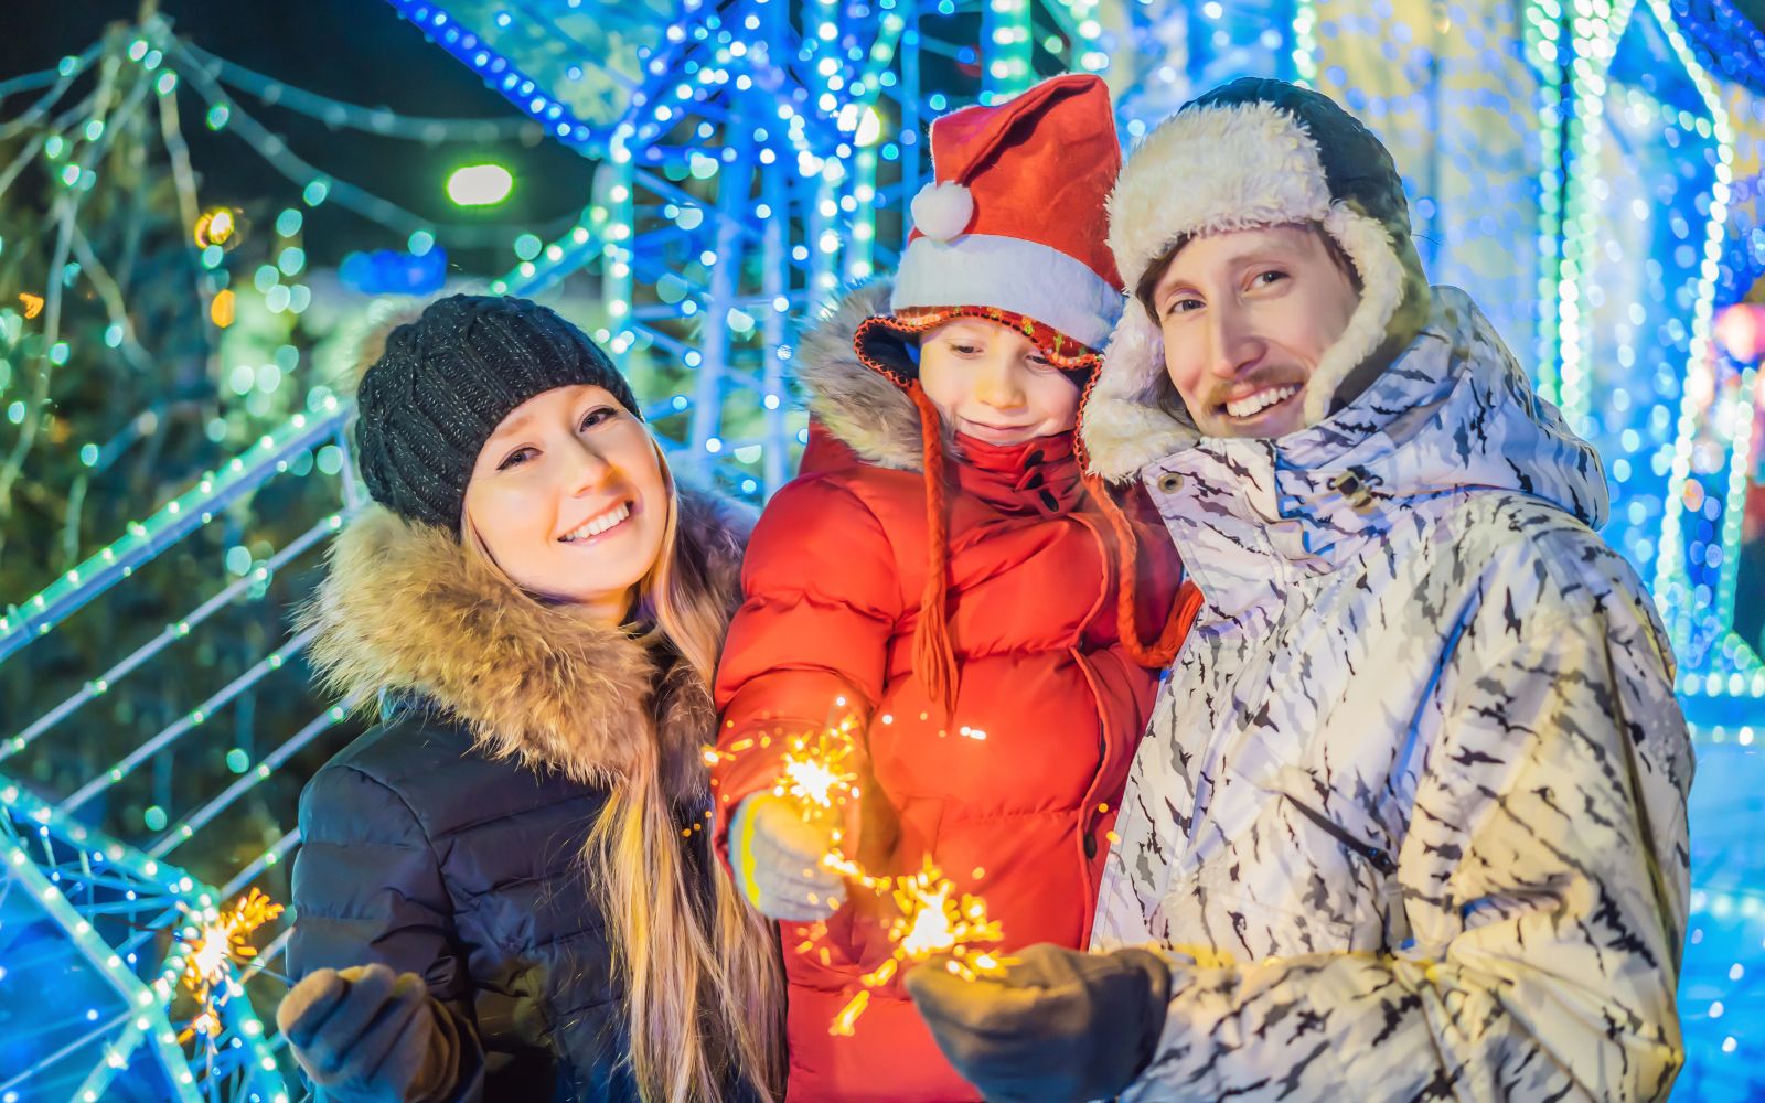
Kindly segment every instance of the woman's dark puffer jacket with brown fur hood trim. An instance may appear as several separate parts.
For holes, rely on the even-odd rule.
[[[745,538],[729,506],[683,496],[681,542],[729,602]],[[339,536],[307,619],[330,685],[413,704],[302,794],[291,976],[372,962],[424,976],[468,1039],[459,1098],[637,1099],[616,928],[582,842],[651,724],[683,826],[702,824],[704,690],[680,660],[512,591],[445,533],[381,510]],[[681,845],[708,874],[704,831]]]

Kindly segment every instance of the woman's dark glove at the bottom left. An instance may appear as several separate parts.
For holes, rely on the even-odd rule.
[[[282,997],[275,1024],[339,1103],[434,1103],[457,1078],[459,1034],[415,972],[318,969]]]

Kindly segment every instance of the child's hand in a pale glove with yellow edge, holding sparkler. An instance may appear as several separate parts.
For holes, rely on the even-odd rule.
[[[845,902],[845,881],[821,868],[833,828],[805,822],[782,796],[741,801],[729,838],[741,893],[768,919],[826,919]]]

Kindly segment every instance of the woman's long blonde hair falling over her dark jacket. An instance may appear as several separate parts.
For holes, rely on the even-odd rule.
[[[634,614],[650,623],[641,641],[680,655],[710,697],[729,618],[694,549],[681,542],[680,491],[655,448],[667,522],[657,561],[637,582]],[[494,567],[469,517],[461,531]],[[609,948],[614,976],[625,983],[627,1062],[644,1099],[711,1103],[741,1094],[743,1085],[770,1099],[784,1087],[784,976],[771,925],[741,902],[710,845],[688,858],[688,847],[710,837],[708,801],[671,798],[671,764],[655,724],[646,734],[582,847],[618,935]]]

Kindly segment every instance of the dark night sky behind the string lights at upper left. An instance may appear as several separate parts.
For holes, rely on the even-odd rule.
[[[0,0],[0,79],[53,67],[79,53],[113,21],[136,19],[141,5],[124,0],[58,0],[48,5]],[[25,14],[30,9],[30,16]],[[409,116],[514,118],[501,95],[436,46],[424,41],[383,0],[162,0],[159,11],[173,30],[229,62],[319,95],[364,108],[390,108]],[[53,14],[51,14],[53,12]],[[293,154],[339,180],[349,180],[424,217],[447,222],[491,221],[515,233],[574,224],[588,203],[593,164],[537,134],[537,143],[489,146],[438,145],[330,131],[284,108],[229,90],[247,113],[282,134]],[[180,86],[180,115],[191,159],[201,175],[205,205],[233,205],[268,214],[298,205],[302,184],[289,182],[231,132],[203,125],[205,104]],[[35,99],[19,94],[0,102],[11,118]],[[496,159],[515,175],[510,198],[489,212],[455,208],[443,191],[459,164]],[[447,244],[447,235],[439,235]],[[404,236],[360,219],[335,203],[309,210],[305,242],[316,265],[335,265],[353,249],[402,249]],[[515,256],[501,249],[452,251],[455,266],[501,274]]]

